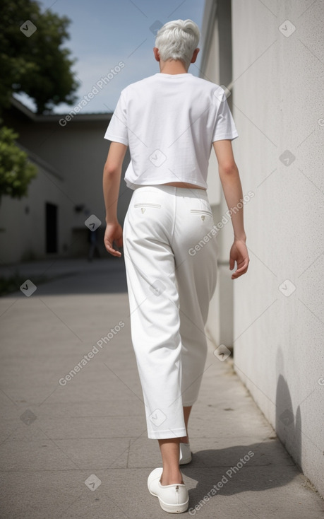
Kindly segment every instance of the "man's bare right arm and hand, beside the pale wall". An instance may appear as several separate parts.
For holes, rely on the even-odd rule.
[[[227,206],[229,210],[237,209],[237,211],[233,211],[231,214],[234,243],[229,253],[229,269],[234,269],[235,262],[237,264],[237,269],[232,274],[232,279],[236,279],[246,273],[250,261],[246,248],[246,233],[244,231],[244,205],[241,202],[241,199],[243,199],[241,180],[239,170],[234,161],[232,141],[230,139],[224,139],[222,141],[215,141],[212,144],[218,162],[220,181],[222,182],[222,189]],[[237,206],[239,202],[241,202],[241,209]]]

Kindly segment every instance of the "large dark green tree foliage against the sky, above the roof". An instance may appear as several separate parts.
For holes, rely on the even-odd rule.
[[[28,20],[37,28],[30,37],[20,30]],[[8,106],[15,92],[28,94],[39,114],[59,103],[76,102],[78,81],[71,71],[75,60],[62,47],[69,24],[66,16],[41,13],[36,1],[1,0],[0,107]]]

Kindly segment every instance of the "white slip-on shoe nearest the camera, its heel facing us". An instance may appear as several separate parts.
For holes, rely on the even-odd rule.
[[[152,470],[148,477],[148,490],[152,496],[156,496],[164,512],[182,513],[186,512],[189,496],[184,484],[162,485],[160,478],[163,469]]]

